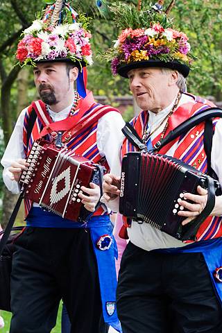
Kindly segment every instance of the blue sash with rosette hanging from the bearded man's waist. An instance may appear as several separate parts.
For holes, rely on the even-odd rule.
[[[89,228],[99,271],[104,321],[121,333],[116,308],[117,273],[115,258],[117,259],[118,252],[116,241],[112,235],[109,216],[92,216],[85,224],[62,219],[62,217],[46,212],[40,207],[33,207],[26,218],[26,225],[27,227],[40,228]]]

